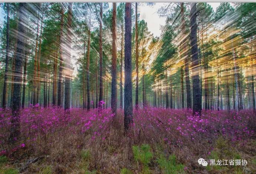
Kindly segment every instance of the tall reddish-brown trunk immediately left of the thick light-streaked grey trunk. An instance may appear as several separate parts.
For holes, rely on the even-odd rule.
[[[60,65],[59,65],[59,81],[58,81],[58,106],[62,107],[62,62],[63,62],[63,20],[64,20],[64,8],[61,6],[61,18],[60,18]]]

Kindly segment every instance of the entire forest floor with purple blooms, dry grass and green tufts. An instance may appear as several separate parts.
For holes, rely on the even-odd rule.
[[[124,114],[60,108],[25,108],[19,138],[8,144],[10,110],[0,109],[0,173],[256,173],[256,123],[252,110],[134,111],[124,136]],[[208,165],[198,164],[204,158]],[[227,160],[228,165],[210,165]],[[247,164],[230,160],[246,160]]]

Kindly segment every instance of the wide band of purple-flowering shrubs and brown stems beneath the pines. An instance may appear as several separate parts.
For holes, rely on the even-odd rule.
[[[63,108],[34,107],[21,111],[20,136],[10,145],[11,113],[9,109],[0,109],[0,155],[49,155],[53,161],[67,165],[78,158],[81,150],[88,149],[93,159],[91,169],[99,167],[103,173],[110,172],[111,159],[118,161],[112,164],[120,165],[118,171],[134,163],[129,157],[132,145],[146,143],[155,153],[161,149],[162,155],[174,154],[189,170],[198,167],[194,158],[211,154],[219,137],[234,146],[256,137],[252,110],[208,110],[199,117],[193,116],[191,110],[146,107],[134,110],[131,130],[124,136],[121,109],[114,116],[111,108],[90,111],[72,108],[67,116]]]

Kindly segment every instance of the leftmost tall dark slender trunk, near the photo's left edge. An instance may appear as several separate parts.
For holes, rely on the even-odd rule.
[[[2,108],[6,108],[6,94],[7,94],[7,80],[8,80],[8,68],[9,68],[9,28],[10,28],[10,7],[9,3],[6,4],[6,57],[5,57],[5,71],[4,71],[4,86],[3,86],[3,100]]]

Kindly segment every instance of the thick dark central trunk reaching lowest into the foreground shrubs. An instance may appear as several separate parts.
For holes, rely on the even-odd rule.
[[[124,129],[128,130],[132,124],[132,59],[131,59],[131,29],[132,4],[125,3],[125,54],[124,54]]]

